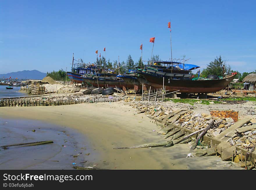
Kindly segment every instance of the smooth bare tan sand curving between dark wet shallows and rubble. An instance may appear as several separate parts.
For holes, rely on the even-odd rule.
[[[100,169],[242,169],[240,164],[223,162],[216,156],[186,158],[191,144],[173,147],[113,149],[150,142],[163,142],[158,126],[144,114],[123,102],[66,106],[2,107],[5,119],[37,118],[67,126],[84,136],[91,159]],[[155,131],[154,131],[155,130]],[[80,140],[76,140],[81,144]],[[77,166],[82,166],[77,164]]]

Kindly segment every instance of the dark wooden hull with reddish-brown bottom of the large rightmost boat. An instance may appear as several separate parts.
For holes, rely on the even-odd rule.
[[[160,75],[152,75],[150,73],[143,73],[147,80],[147,85],[151,89],[163,88],[163,77]],[[164,86],[170,92],[179,90],[180,93],[213,93],[225,88],[236,76],[230,75],[224,79],[216,80],[191,80],[191,79],[170,79],[164,77]]]

